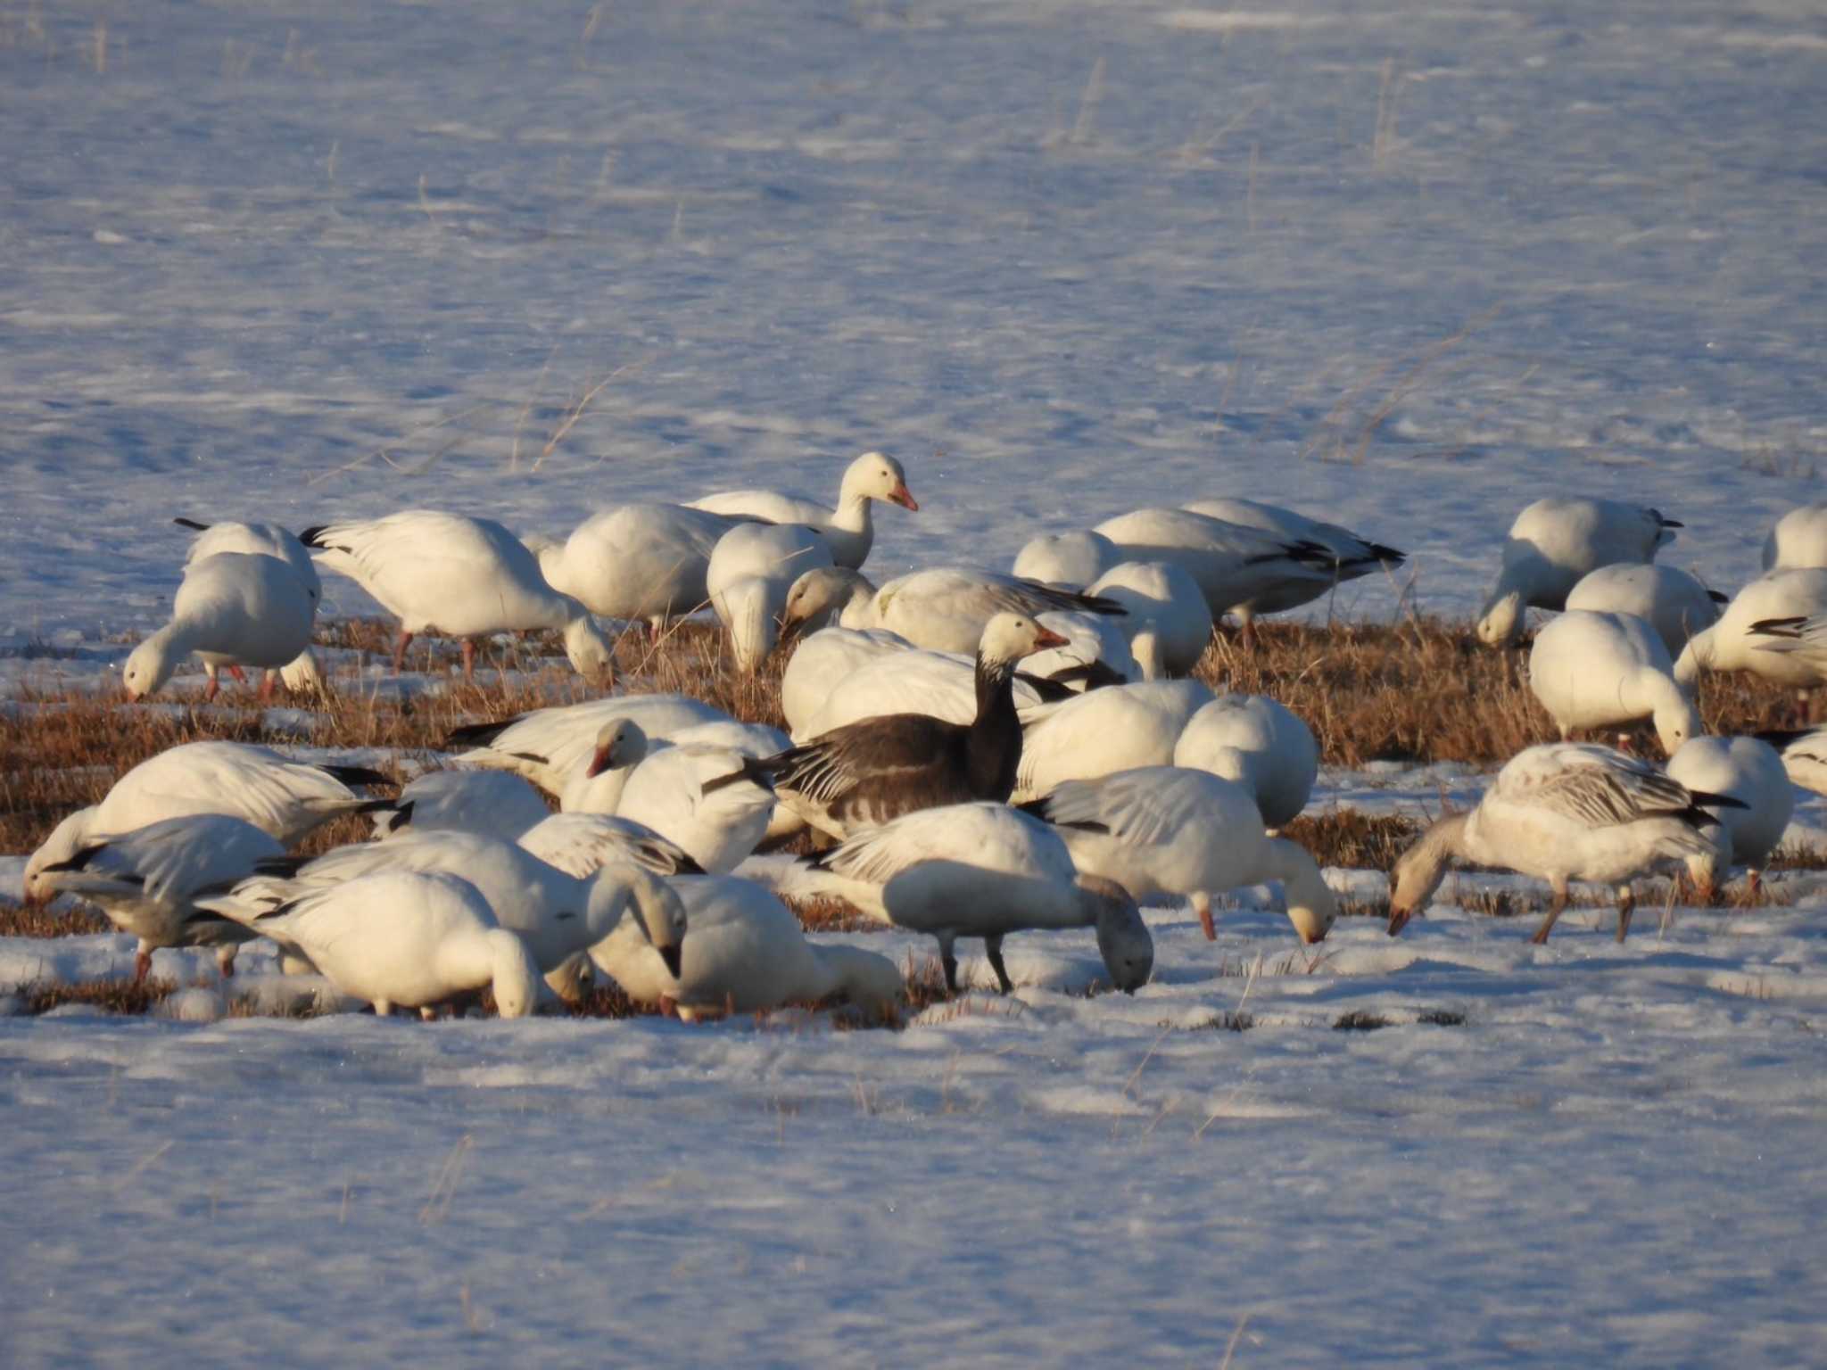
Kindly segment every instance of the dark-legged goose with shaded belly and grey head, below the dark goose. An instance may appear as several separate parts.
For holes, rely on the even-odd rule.
[[[948,804],[903,815],[818,857],[833,888],[862,910],[939,941],[945,986],[957,992],[959,937],[981,937],[996,985],[1014,988],[1003,937],[1045,928],[1096,928],[1111,981],[1147,983],[1155,943],[1129,893],[1080,875],[1047,824],[1007,804]]]

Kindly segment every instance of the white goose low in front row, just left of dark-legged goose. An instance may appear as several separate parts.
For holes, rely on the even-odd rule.
[[[630,930],[612,932],[596,954],[636,1003],[674,1006],[687,1023],[826,999],[893,1016],[901,970],[888,957],[809,941],[793,912],[755,880],[692,875],[672,888],[691,924],[676,975]]]

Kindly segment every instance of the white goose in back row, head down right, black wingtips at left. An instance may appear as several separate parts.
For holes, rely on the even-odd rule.
[[[331,522],[300,533],[318,561],[367,590],[400,619],[393,670],[418,634],[462,639],[464,680],[475,678],[475,639],[554,628],[577,674],[608,680],[614,648],[588,610],[546,583],[533,553],[493,519],[406,510],[385,519]]]

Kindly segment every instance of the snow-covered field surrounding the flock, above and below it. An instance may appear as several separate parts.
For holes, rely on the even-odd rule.
[[[1445,614],[1542,493],[1727,590],[1820,497],[1816,5],[46,0],[0,111],[15,645],[152,627],[172,515],[561,532],[864,448],[884,575],[1235,493]],[[0,1019],[0,1363],[1818,1363],[1794,886],[1624,948],[1151,910],[1133,999],[1025,937],[899,1034]]]

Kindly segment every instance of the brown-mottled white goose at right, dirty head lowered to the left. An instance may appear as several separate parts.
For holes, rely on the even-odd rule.
[[[1659,769],[1611,747],[1549,742],[1516,753],[1471,813],[1429,827],[1390,875],[1389,935],[1432,897],[1458,859],[1547,880],[1555,901],[1535,930],[1546,943],[1568,906],[1568,880],[1617,888],[1617,939],[1630,932],[1630,882],[1690,857],[1719,859],[1706,829],[1708,807],[1737,807],[1721,795],[1697,795]],[[1706,807],[1703,807],[1706,806]]]

